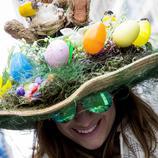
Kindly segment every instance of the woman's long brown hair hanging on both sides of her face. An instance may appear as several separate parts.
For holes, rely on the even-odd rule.
[[[114,92],[114,105],[116,108],[116,118],[106,140],[106,149],[104,149],[102,157],[113,157],[117,129],[120,127],[123,134],[125,127],[123,122],[126,120],[135,137],[140,142],[145,158],[149,158],[150,153],[153,152],[152,150],[156,149],[154,129],[158,130],[158,116],[149,105],[133,94],[128,87],[120,88],[116,93]],[[37,123],[36,137],[38,138],[35,156],[37,158],[42,158],[44,153],[49,158],[91,157],[90,155],[87,156],[85,152],[78,152],[78,145],[63,136],[52,120]],[[123,139],[130,148],[124,134]],[[33,155],[35,154],[33,153]]]

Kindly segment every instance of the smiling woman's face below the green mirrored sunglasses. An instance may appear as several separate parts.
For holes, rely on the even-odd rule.
[[[107,139],[114,119],[114,105],[107,112],[99,114],[86,111],[78,105],[76,117],[67,123],[57,123],[57,128],[82,147],[94,150]]]

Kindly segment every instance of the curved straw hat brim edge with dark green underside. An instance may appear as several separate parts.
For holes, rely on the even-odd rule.
[[[153,74],[157,77],[157,68],[158,53],[148,55],[114,72],[106,73],[85,82],[71,96],[50,107],[38,110],[0,111],[0,127],[10,129],[32,128],[33,122],[51,118],[54,111],[68,106],[73,100],[79,100],[92,92],[102,89],[113,91],[123,84],[132,87],[136,83],[152,77]]]

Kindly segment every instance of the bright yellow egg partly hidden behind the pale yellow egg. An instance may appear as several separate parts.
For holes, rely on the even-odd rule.
[[[140,32],[137,39],[134,41],[134,45],[137,47],[141,47],[145,45],[151,35],[151,24],[147,19],[142,19],[139,21]]]

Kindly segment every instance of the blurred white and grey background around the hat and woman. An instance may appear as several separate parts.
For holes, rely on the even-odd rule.
[[[9,49],[18,42],[4,32],[4,23],[11,19],[25,23],[25,20],[18,14],[19,1],[5,0],[0,5],[0,73],[6,66]],[[149,18],[152,23],[151,38],[156,39],[158,33],[157,6],[158,0],[91,0],[90,17],[92,20],[98,20],[103,17],[106,10],[112,10],[116,16],[125,15],[129,19]],[[158,79],[145,81],[134,87],[134,90],[158,113]],[[0,158],[30,158],[32,144],[33,130],[0,130]]]

